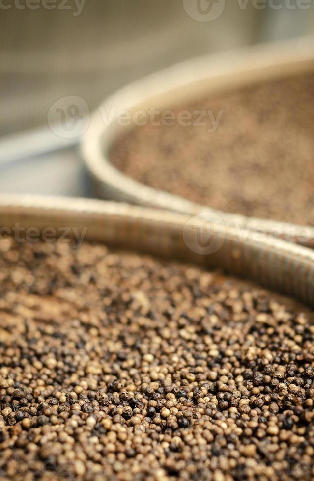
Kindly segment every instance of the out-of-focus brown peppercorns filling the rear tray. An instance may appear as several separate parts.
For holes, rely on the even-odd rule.
[[[314,73],[167,112],[119,138],[119,170],[214,209],[314,225]]]

